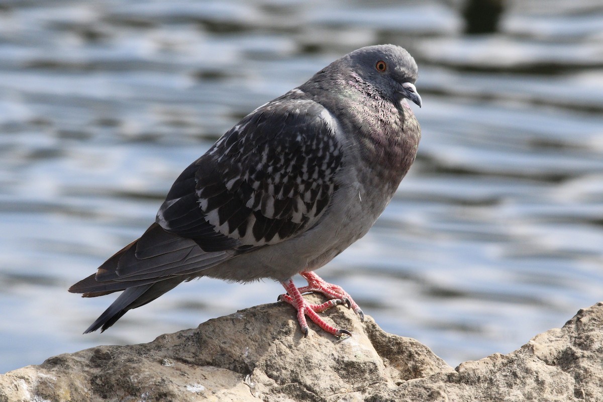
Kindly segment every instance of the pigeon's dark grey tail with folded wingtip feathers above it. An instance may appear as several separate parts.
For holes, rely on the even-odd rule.
[[[226,251],[203,251],[194,240],[153,224],[140,239],[118,251],[96,274],[71,286],[69,292],[97,297],[124,291],[84,333],[98,328],[104,331],[128,310],[155,300],[231,257]]]

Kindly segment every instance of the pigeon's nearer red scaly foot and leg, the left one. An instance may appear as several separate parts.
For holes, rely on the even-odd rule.
[[[299,289],[293,283],[293,280],[289,278],[288,280],[281,282],[285,290],[287,291],[286,295],[281,295],[280,300],[286,301],[286,303],[291,304],[295,309],[297,309],[297,321],[300,323],[301,330],[304,333],[304,336],[308,336],[308,322],[306,322],[306,315],[315,324],[317,324],[322,330],[333,334],[335,336],[342,336],[343,334],[347,334],[352,336],[352,333],[347,330],[341,330],[324,322],[320,316],[316,313],[316,311],[324,311],[329,307],[336,306],[341,303],[341,300],[329,300],[323,304],[309,304],[301,295]]]

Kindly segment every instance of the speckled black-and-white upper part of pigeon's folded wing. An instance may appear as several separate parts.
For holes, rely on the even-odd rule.
[[[341,168],[336,122],[285,95],[244,118],[178,177],[157,214],[206,251],[253,250],[312,227]]]

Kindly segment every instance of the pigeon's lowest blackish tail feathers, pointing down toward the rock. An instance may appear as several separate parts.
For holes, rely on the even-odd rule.
[[[136,309],[136,307],[144,306],[147,303],[155,300],[165,292],[171,291],[185,278],[172,278],[163,280],[157,283],[145,284],[142,286],[128,287],[124,293],[99,316],[95,322],[88,327],[85,334],[98,330],[101,332],[115,324],[128,310]]]

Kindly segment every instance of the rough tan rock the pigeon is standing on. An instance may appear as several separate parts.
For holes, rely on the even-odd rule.
[[[456,369],[370,317],[361,323],[341,306],[324,316],[353,336],[338,341],[311,326],[303,338],[291,306],[266,304],[149,344],[96,347],[7,372],[0,402],[603,401],[601,303],[513,353]]]

